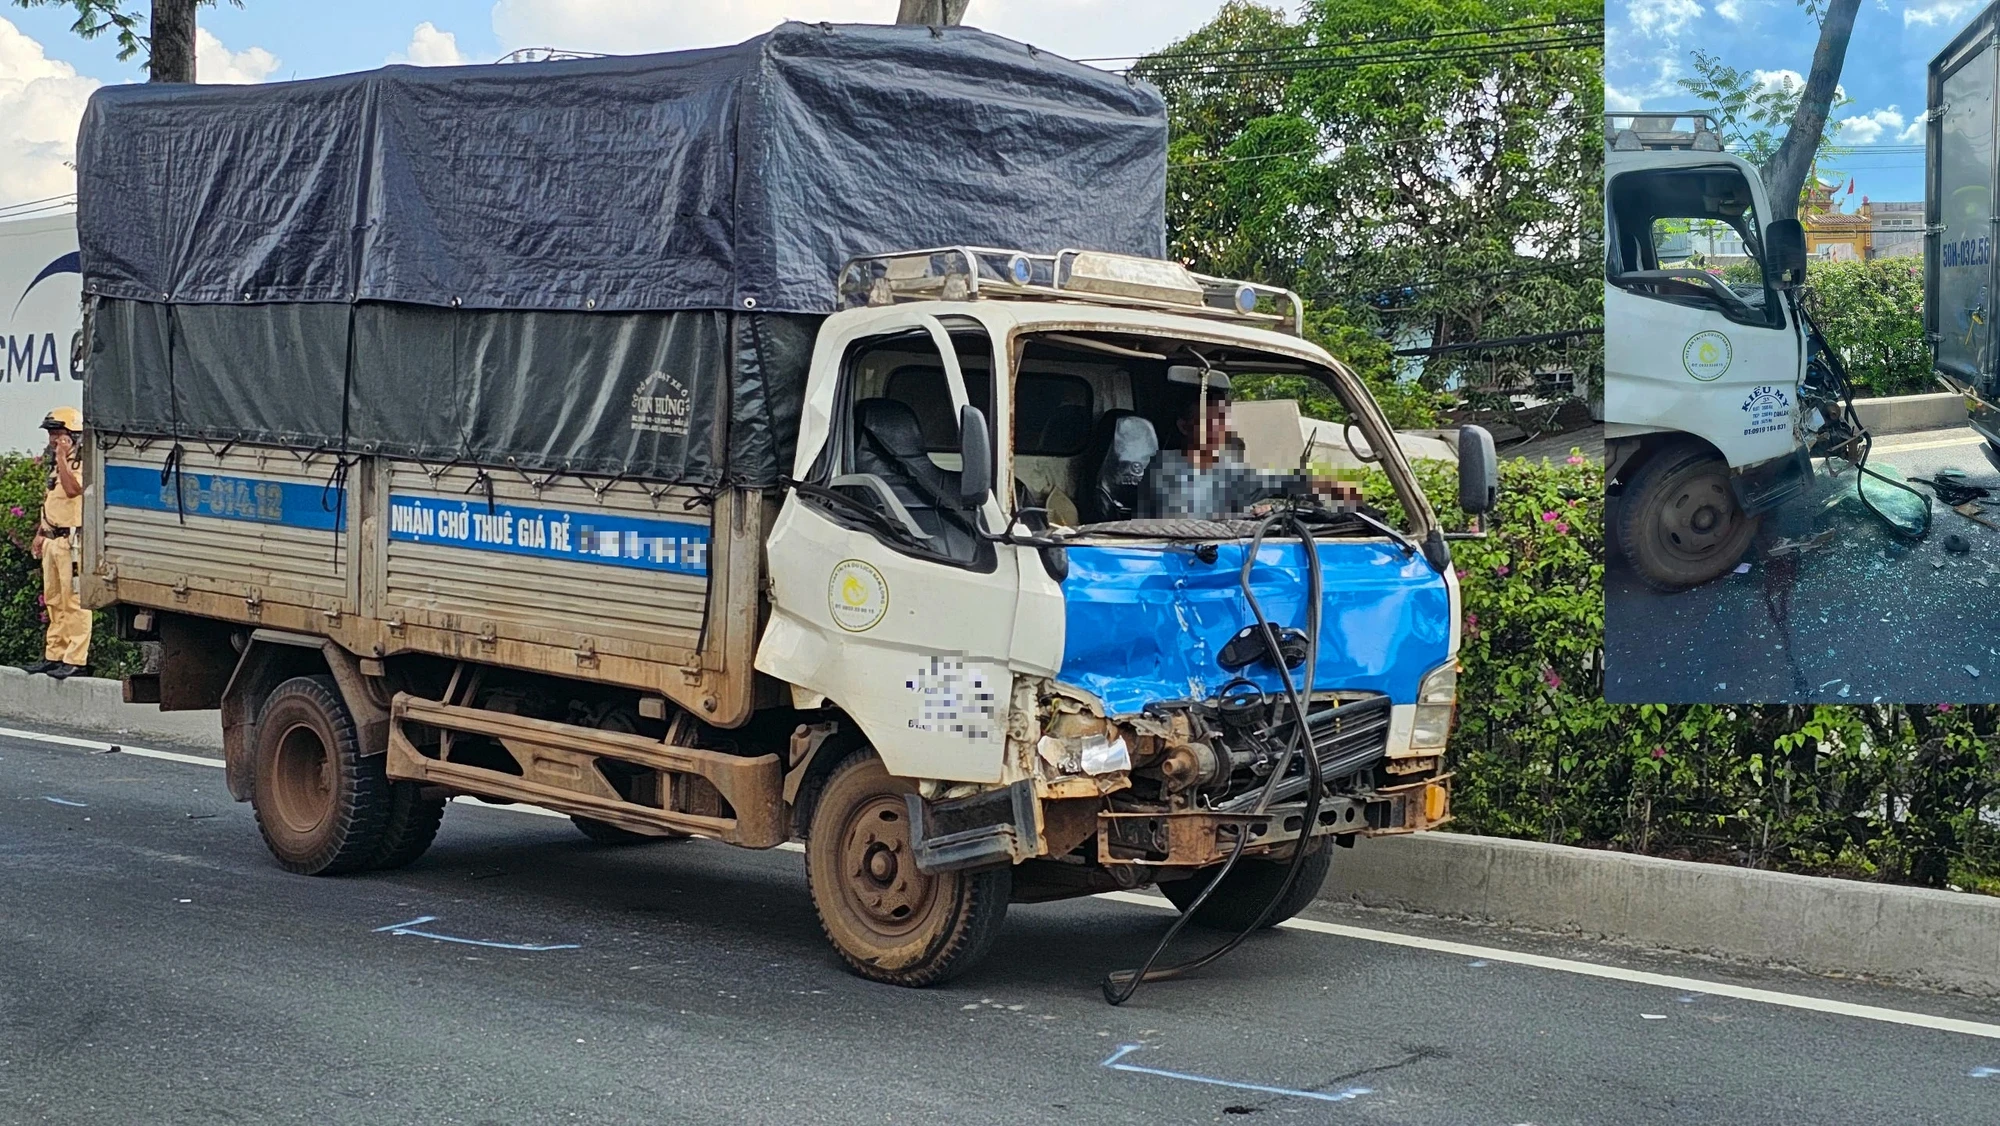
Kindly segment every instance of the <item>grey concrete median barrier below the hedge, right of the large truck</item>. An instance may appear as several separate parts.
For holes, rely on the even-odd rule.
[[[1362,840],[1322,900],[2000,996],[2000,898],[1450,832]]]

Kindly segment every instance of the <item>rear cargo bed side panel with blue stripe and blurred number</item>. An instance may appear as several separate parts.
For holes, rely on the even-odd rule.
[[[332,456],[300,462],[286,450],[234,446],[222,456],[182,444],[180,472],[166,474],[172,444],[92,450],[98,492],[86,522],[86,558],[100,598],[118,584],[164,586],[176,602],[210,596],[240,604],[232,618],[256,622],[284,606],[352,614],[358,490],[330,486]],[[176,486],[180,504],[176,508]],[[172,608],[172,606],[170,606]]]

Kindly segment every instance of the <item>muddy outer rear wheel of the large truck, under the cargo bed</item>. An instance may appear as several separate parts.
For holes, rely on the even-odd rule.
[[[390,812],[384,756],[362,756],[332,676],[294,676],[258,712],[250,808],[278,866],[302,876],[366,868]]]

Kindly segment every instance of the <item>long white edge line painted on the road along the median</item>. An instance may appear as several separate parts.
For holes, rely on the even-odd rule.
[[[204,758],[198,754],[176,754],[172,750],[148,750],[142,746],[108,744],[86,738],[52,736],[42,732],[24,732],[14,728],[0,728],[0,738],[22,738],[32,742],[52,742],[58,746],[80,746],[86,750],[108,750],[116,746],[120,754],[138,754],[140,758],[160,758],[166,762],[188,762],[194,766],[222,766],[220,758]],[[516,802],[512,806],[488,806],[478,798],[458,796],[452,802],[486,806],[488,810],[514,810],[522,814],[538,814],[552,818],[568,818],[568,814],[558,814],[556,810],[546,810],[542,806],[530,806]],[[796,840],[788,840],[778,848],[786,852],[804,852],[806,848]],[[1148,896],[1140,892],[1102,892],[1092,896],[1098,900],[1112,900],[1120,904],[1136,904],[1154,910],[1174,910],[1164,896]],[[1954,1016],[1932,1016],[1928,1012],[1906,1012],[1900,1008],[1882,1008],[1874,1004],[1852,1004],[1844,1000],[1826,1000],[1816,996],[1788,994],[1778,990],[1760,990],[1752,986],[1734,986],[1728,982],[1704,982],[1702,978],[1682,978],[1676,974],[1654,974],[1650,970],[1628,970],[1624,966],[1602,966],[1598,962],[1578,962],[1574,958],[1550,958],[1546,954],[1528,954],[1524,950],[1504,950],[1498,946],[1474,946],[1470,942],[1452,942],[1446,938],[1428,938],[1422,934],[1402,934],[1396,930],[1372,930],[1366,926],[1348,926],[1344,922],[1320,922],[1316,918],[1288,918],[1278,926],[1286,930],[1308,930],[1312,934],[1330,934],[1334,938],[1354,938],[1360,942],[1378,942],[1384,946],[1406,946],[1410,950],[1430,950],[1436,954],[1456,954],[1462,958],[1484,958],[1488,962],[1508,962],[1514,966],[1532,966],[1536,970],[1556,970],[1560,974],[1578,974],[1584,978],[1602,978],[1610,982],[1630,982],[1640,986],[1658,986],[1664,990],[1680,990],[1684,994],[1708,994],[1726,996],[1736,1000],[1754,1000],[1758,1004],[1772,1004],[1778,1008],[1798,1008],[1806,1012],[1826,1012],[1832,1016],[1852,1016],[1858,1020],[1874,1020],[1880,1024],[1906,1024],[1910,1028],[1932,1028],[1938,1032],[1958,1032],[1962,1036],[1982,1036],[1986,1040],[2000,1040],[2000,1024],[1982,1024],[1978,1020],[1958,1020]]]

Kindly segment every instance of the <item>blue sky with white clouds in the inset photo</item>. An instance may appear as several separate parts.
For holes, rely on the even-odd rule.
[[[1862,0],[1836,110],[1844,156],[1832,168],[1862,196],[1924,198],[1924,70],[1986,0]],[[1694,110],[1676,86],[1706,50],[1738,68],[1804,74],[1820,28],[1796,0],[1610,0],[1606,4],[1604,108]],[[1844,188],[1846,184],[1842,184]]]

